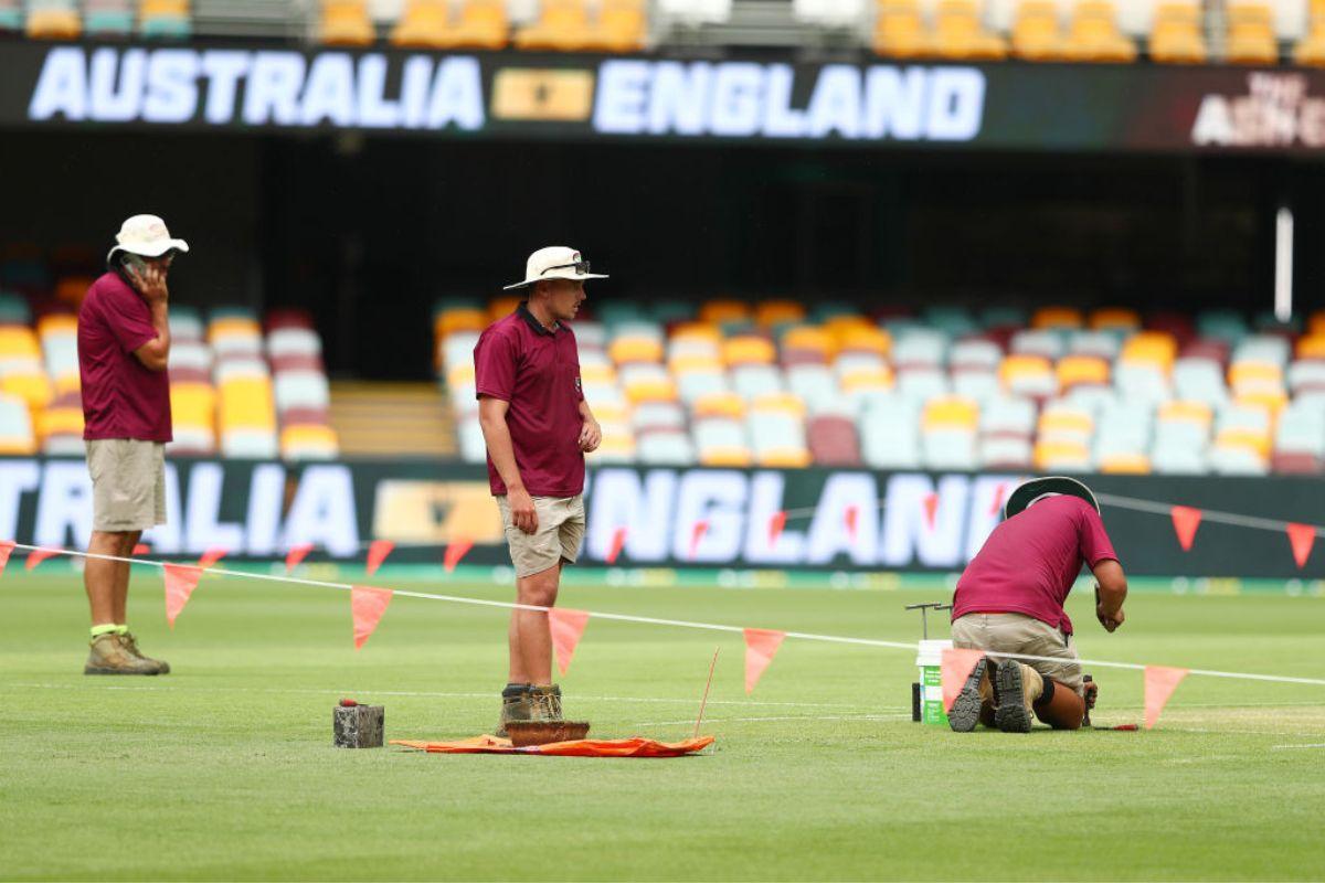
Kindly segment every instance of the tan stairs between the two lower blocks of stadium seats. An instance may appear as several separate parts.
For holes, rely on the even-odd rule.
[[[333,383],[331,428],[344,457],[457,454],[450,404],[432,383]]]

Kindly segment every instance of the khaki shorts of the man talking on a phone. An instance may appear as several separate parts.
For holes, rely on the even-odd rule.
[[[87,446],[91,530],[146,531],[166,523],[166,445],[97,438]]]

